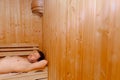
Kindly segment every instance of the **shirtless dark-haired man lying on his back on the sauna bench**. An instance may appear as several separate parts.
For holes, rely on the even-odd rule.
[[[0,74],[28,72],[35,69],[43,69],[46,65],[47,61],[41,51],[33,51],[27,57],[6,56],[0,59]]]

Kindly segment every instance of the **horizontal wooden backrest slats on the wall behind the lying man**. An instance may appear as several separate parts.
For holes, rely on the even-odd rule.
[[[0,44],[0,57],[28,55],[34,50],[39,50],[39,45],[31,43]]]

